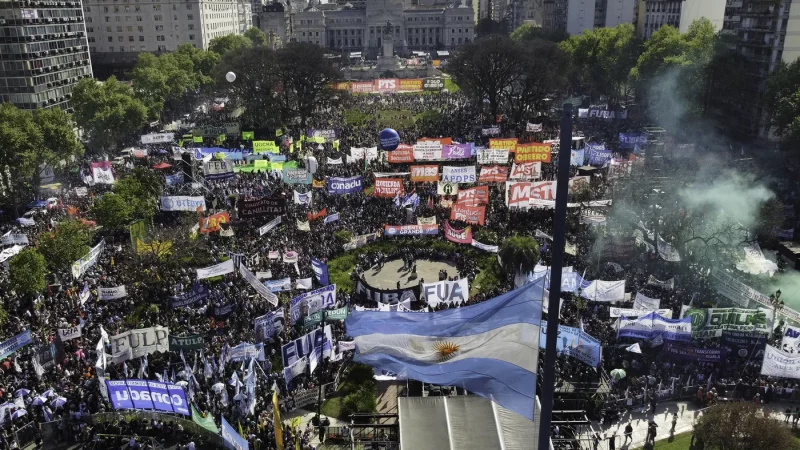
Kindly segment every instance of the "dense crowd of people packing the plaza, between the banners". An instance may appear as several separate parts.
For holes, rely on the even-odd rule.
[[[474,142],[478,146],[488,142],[488,136],[481,133],[481,128],[485,125],[484,114],[459,93],[362,95],[348,97],[343,101],[346,107],[319,111],[309,124],[309,128],[335,129],[335,144],[329,140],[319,144],[305,143],[300,148],[298,143],[304,130],[299,128],[285,130],[284,136],[276,138],[276,142],[282,144],[281,153],[288,160],[296,160],[300,167],[307,167],[307,157],[313,155],[317,164],[315,181],[323,181],[331,176],[363,176],[364,187],[367,188],[365,191],[332,195],[324,188],[285,184],[279,173],[264,171],[237,172],[232,178],[204,180],[202,175],[197,175],[198,170],[190,168],[191,164],[199,166],[200,163],[192,161],[187,164],[183,159],[172,158],[175,153],[171,147],[174,144],[138,145],[139,148],[147,148],[149,156],[128,157],[126,163],[114,166],[115,178],[128,176],[133,170],[153,171],[151,167],[160,162],[171,164],[172,168],[157,172],[159,177],[181,171],[189,178],[191,174],[195,174],[195,179],[186,179],[183,184],[163,186],[163,192],[159,195],[204,196],[208,205],[208,211],[204,212],[206,216],[223,211],[230,213],[233,236],[223,236],[219,231],[201,234],[191,250],[197,252],[196,259],[193,258],[195,255],[189,254],[180,264],[160,264],[157,258],[137,255],[126,233],[99,230],[95,233],[92,245],[103,236],[106,246],[97,262],[77,278],[70,273],[69,268],[53,273],[48,277],[49,286],[46,291],[38,296],[14,292],[8,270],[0,271],[0,299],[8,313],[0,328],[0,336],[6,340],[29,330],[34,340],[34,344],[8,355],[0,363],[0,395],[10,404],[3,409],[0,417],[3,430],[0,445],[3,448],[13,448],[13,443],[21,440],[17,436],[18,430],[26,427],[36,430],[37,435],[52,431],[45,435],[57,440],[103,442],[109,446],[129,440],[131,445],[136,443],[141,448],[148,448],[151,439],[171,439],[185,448],[194,448],[196,444],[201,444],[202,436],[193,435],[178,422],[162,422],[158,419],[148,420],[121,414],[102,423],[87,419],[92,415],[113,411],[101,385],[102,380],[130,378],[184,382],[184,385],[190,387],[187,388],[187,399],[201,414],[210,415],[217,426],[220,426],[224,418],[237,427],[254,448],[276,448],[276,424],[273,422],[272,410],[273,385],[278,390],[278,398],[282,399],[282,408],[287,411],[293,406],[288,401],[292,397],[304,391],[316,391],[321,384],[333,382],[352,354],[337,349],[339,341],[348,340],[342,322],[331,323],[333,356],[328,362],[314,373],[308,374],[306,371],[289,383],[285,382],[281,347],[308,332],[303,321],[291,326],[286,321],[286,325],[274,337],[264,342],[266,358],[256,363],[260,366],[256,371],[259,378],[255,391],[256,411],[251,414],[243,407],[248,401],[246,395],[237,396],[240,388],[236,380],[245,375],[245,364],[225,364],[220,355],[240,343],[258,342],[259,339],[253,331],[254,320],[274,311],[276,307],[267,298],[256,293],[238,272],[218,279],[201,280],[200,283],[212,292],[207,302],[173,308],[171,299],[189,292],[198,282],[197,268],[211,266],[229,258],[236,257],[237,264],[246,266],[253,273],[269,272],[268,279],[272,280],[314,278],[312,258],[328,262],[344,253],[344,243],[337,239],[337,232],[348,231],[351,236],[378,233],[379,236],[384,225],[416,224],[416,217],[432,216],[436,217],[436,223],[440,227],[443,226],[449,220],[450,209],[440,202],[441,196],[437,195],[436,183],[412,184],[406,178],[406,192],[415,192],[419,196],[419,206],[413,215],[409,215],[405,208],[398,207],[394,198],[375,197],[368,193],[368,188],[374,184],[375,173],[408,172],[409,164],[389,164],[380,159],[367,163],[363,160],[335,165],[329,163],[340,158],[347,161],[351,147],[375,146],[377,134],[383,126],[380,116],[386,111],[402,111],[408,116],[406,119],[409,125],[397,130],[403,143],[413,144],[422,137],[452,137],[454,141]],[[346,111],[351,110],[362,112],[368,119],[360,123],[348,123]],[[435,111],[437,114],[423,114],[428,111]],[[417,119],[413,120],[414,118]],[[208,120],[201,117],[196,119],[197,123]],[[623,125],[601,119],[579,121],[576,125],[576,129],[587,136],[590,133],[600,133],[597,131],[599,128],[603,128],[603,133],[613,135],[619,131],[630,131],[632,127],[635,124]],[[557,128],[545,122],[543,131],[526,133],[521,139],[544,141],[556,139],[557,136]],[[293,152],[289,150],[288,137],[292,138]],[[271,136],[263,138],[273,139]],[[238,136],[231,136],[222,145],[238,151],[247,148],[249,142]],[[194,159],[191,148],[183,149],[183,152]],[[32,225],[20,225],[9,214],[0,216],[5,220],[0,225],[0,235],[8,232],[25,234],[30,245],[36,246],[37,237],[52,232],[60,221],[67,218],[68,212],[93,220],[90,214],[92,203],[111,187],[104,184],[84,184],[81,175],[91,175],[89,163],[92,158],[99,160],[102,157],[87,157],[79,174],[65,174],[59,180],[60,187],[45,193],[46,196],[57,198],[58,204],[52,208],[38,209],[31,216],[34,219]],[[181,158],[180,154],[178,158]],[[544,179],[555,178],[557,159],[557,155],[553,154],[552,163],[543,165]],[[237,168],[245,164],[246,161],[234,163]],[[475,157],[458,164],[475,165]],[[571,174],[577,174],[578,170],[578,167],[573,166]],[[642,168],[634,166],[633,170]],[[599,168],[592,178],[592,199],[609,198],[607,168]],[[541,244],[540,264],[548,265],[551,243],[546,236],[541,237],[536,232],[538,230],[543,234],[552,234],[553,210],[509,209],[503,200],[502,183],[491,186],[486,224],[480,228],[495,233],[497,243],[513,234],[536,235]],[[83,187],[88,187],[88,195],[76,190]],[[462,186],[466,187],[469,186]],[[313,192],[313,203],[295,204],[292,199],[297,190]],[[267,196],[285,199],[288,210],[282,225],[261,234],[258,228],[271,217],[245,219],[238,217],[235,211],[239,199]],[[296,224],[305,222],[309,213],[323,210],[327,217],[338,214],[338,220],[311,220],[309,231],[298,229]],[[153,218],[150,233],[168,236],[166,230],[172,229],[188,235],[189,226],[182,219],[194,215],[194,212],[158,211]],[[194,218],[191,220],[195,221]],[[455,221],[452,223],[460,227],[467,225]],[[576,251],[567,255],[566,263],[574,267],[575,271],[583,273],[586,279],[624,278],[626,291],[633,296],[637,292],[643,292],[649,297],[661,299],[661,308],[671,309],[673,317],[678,317],[681,305],[690,303],[694,297],[712,304],[720,300],[700,273],[681,274],[680,279],[669,286],[652,283],[653,275],[659,280],[665,280],[675,274],[669,273],[667,265],[657,254],[648,253],[643,247],[637,247],[634,254],[624,260],[605,259],[601,264],[597,262],[600,258],[593,256],[593,245],[597,239],[612,231],[603,225],[588,225],[578,220],[570,221],[568,225],[567,239],[575,245]],[[409,267],[416,266],[415,261],[419,259],[436,259],[450,261],[458,268],[461,276],[474,281],[479,269],[468,256],[427,248],[427,240],[443,239],[441,236],[440,233],[436,237],[379,237],[378,239],[395,240],[397,249],[392,252],[357,250],[359,256],[352,270],[358,273],[391,259],[402,259],[404,266],[408,264]],[[274,258],[271,252],[278,252],[279,257]],[[297,253],[296,263],[283,261],[282,256],[287,252]],[[179,249],[176,249],[176,253],[179,253]],[[613,264],[606,264],[607,262]],[[436,281],[436,275],[431,275],[429,281]],[[320,287],[316,278],[314,283],[315,288]],[[85,286],[91,294],[88,301],[82,300]],[[100,288],[115,286],[125,286],[127,295],[116,300],[98,300]],[[473,293],[466,303],[450,307],[479,302],[512,288],[513,276],[508,276],[500,285]],[[281,302],[279,305],[283,307],[288,300],[302,292],[304,291],[294,285],[290,290],[278,292]],[[573,358],[561,356],[558,360],[559,379],[597,381],[603,379],[604,374],[612,369],[624,368],[627,377],[612,382],[609,404],[630,405],[626,401],[629,398],[638,398],[637,402],[641,403],[647,402],[642,398],[653,399],[655,402],[660,392],[678,392],[685,386],[700,386],[704,390],[697,394],[698,401],[701,402],[713,402],[717,397],[750,400],[757,394],[762,398],[765,394],[773,398],[775,394],[770,393],[779,392],[777,396],[788,396],[792,392],[798,392],[798,386],[792,381],[770,380],[760,376],[760,359],[753,358],[750,352],[744,356],[730,352],[724,363],[681,364],[660,357],[658,345],[643,344],[641,353],[627,352],[625,347],[632,342],[617,339],[614,328],[616,318],[610,317],[608,303],[594,302],[591,299],[576,301],[570,294],[564,294],[563,298],[567,301],[561,310],[562,323],[580,327],[598,339],[602,343],[603,355],[599,367],[589,367]],[[415,302],[413,309],[425,308],[422,300]],[[335,307],[356,306],[378,307],[370,299],[339,287]],[[623,302],[619,306],[630,307],[631,303]],[[438,308],[441,307],[443,306]],[[288,308],[285,314],[288,318]],[[57,330],[75,326],[81,328],[80,337],[65,342],[57,338]],[[148,355],[146,360],[135,358],[118,363],[99,363],[104,356],[102,352],[98,352],[96,343],[102,340],[104,334],[113,337],[130,329],[155,326],[168,327],[171,336],[202,335],[203,348],[185,353],[156,352]],[[711,339],[698,345],[720,346],[724,343],[719,339]],[[105,345],[102,350],[110,353],[110,346]],[[343,357],[336,357],[340,354]],[[215,365],[212,373],[208,373],[206,359],[223,361],[224,368],[218,370]],[[219,383],[223,383],[223,387],[215,388]],[[713,395],[708,395],[710,390],[713,390]],[[653,407],[655,408],[655,404]],[[311,448],[314,430],[293,430],[285,423],[283,428],[284,448],[295,448],[295,440],[300,440],[298,448]],[[117,445],[115,448],[118,447]]]

